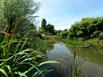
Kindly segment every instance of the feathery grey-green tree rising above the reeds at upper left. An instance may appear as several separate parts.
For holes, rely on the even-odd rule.
[[[1,0],[0,5],[0,28],[7,27],[7,33],[18,32],[21,36],[30,30],[29,26],[33,23],[30,17],[39,8],[33,0]]]

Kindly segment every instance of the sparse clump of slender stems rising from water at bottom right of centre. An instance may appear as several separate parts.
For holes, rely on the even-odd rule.
[[[69,76],[68,77],[89,77],[86,73],[85,62],[86,59],[81,59],[77,56],[77,52],[73,51],[73,58],[69,62]],[[68,72],[66,72],[68,73]]]

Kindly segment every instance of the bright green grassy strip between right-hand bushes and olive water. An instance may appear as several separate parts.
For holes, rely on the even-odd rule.
[[[64,40],[64,43],[67,44],[69,47],[81,47],[81,48],[86,48],[90,46],[103,46],[103,40],[99,39],[89,39],[85,41],[66,39]]]

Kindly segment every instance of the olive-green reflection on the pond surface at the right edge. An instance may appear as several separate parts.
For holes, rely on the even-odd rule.
[[[70,48],[71,51],[76,51],[77,55],[103,66],[103,47],[92,46],[89,48]]]

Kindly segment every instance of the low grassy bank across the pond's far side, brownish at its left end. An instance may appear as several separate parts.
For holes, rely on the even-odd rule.
[[[88,39],[88,40],[72,40],[72,39],[62,39],[58,38],[57,36],[47,36],[48,39],[45,42],[50,45],[57,42],[62,42],[69,47],[80,47],[80,48],[87,48],[91,46],[103,46],[103,40],[99,39]],[[46,37],[46,38],[47,38]]]

